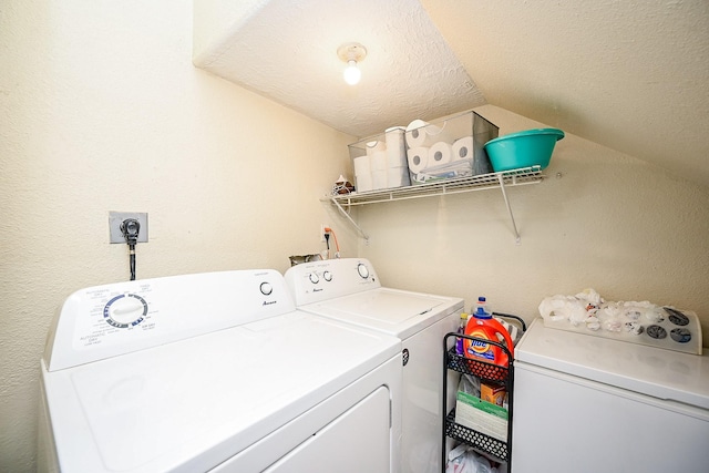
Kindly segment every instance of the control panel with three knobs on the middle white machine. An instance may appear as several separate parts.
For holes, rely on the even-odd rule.
[[[296,306],[381,287],[374,268],[363,258],[304,263],[288,268],[285,278]]]

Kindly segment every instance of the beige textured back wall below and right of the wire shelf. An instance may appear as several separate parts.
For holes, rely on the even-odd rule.
[[[476,111],[501,134],[546,126],[492,105]],[[495,189],[364,206],[358,223],[370,243],[360,240],[360,256],[384,285],[463,297],[467,308],[487,296],[530,321],[544,297],[585,288],[675,305],[699,315],[706,346],[709,189],[569,134],[544,174],[507,189],[518,246]]]

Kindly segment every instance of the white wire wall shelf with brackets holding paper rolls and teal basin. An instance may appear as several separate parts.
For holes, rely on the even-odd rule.
[[[471,177],[461,177],[456,179],[441,179],[429,182],[425,184],[417,184],[407,187],[397,187],[390,189],[370,191],[363,193],[338,194],[325,197],[322,200],[329,200],[335,204],[340,213],[359,230],[359,233],[369,241],[369,236],[357,225],[343,206],[351,207],[354,205],[378,204],[383,202],[404,200],[409,198],[431,197],[436,195],[461,194],[473,191],[485,191],[499,188],[505,199],[510,219],[515,236],[515,243],[520,245],[521,237],[517,230],[517,224],[514,220],[512,207],[507,199],[505,187],[521,186],[527,184],[538,184],[544,179],[542,168],[540,166],[521,167],[518,169],[503,171],[500,173],[481,174]]]

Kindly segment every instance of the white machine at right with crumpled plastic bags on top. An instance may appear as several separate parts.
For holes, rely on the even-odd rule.
[[[514,473],[709,471],[709,357],[623,337],[534,320],[514,350]]]

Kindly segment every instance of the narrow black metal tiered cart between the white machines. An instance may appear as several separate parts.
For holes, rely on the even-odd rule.
[[[493,312],[496,318],[512,319],[512,322],[516,322],[521,326],[522,332],[526,331],[527,327],[524,320],[517,316],[510,313]],[[492,343],[500,347],[508,359],[506,367],[489,363],[482,360],[466,358],[455,352],[455,340],[466,338],[469,340],[475,340],[481,343]],[[453,339],[453,342],[451,342]],[[511,471],[512,464],[512,413],[513,413],[513,393],[514,393],[514,358],[512,352],[503,343],[499,343],[492,340],[482,340],[476,337],[471,337],[462,333],[451,332],[443,338],[443,428],[441,433],[441,460],[442,460],[442,473],[445,473],[445,465],[448,462],[446,451],[446,438],[465,443],[473,448],[477,453],[481,453],[492,460],[500,463],[507,464],[507,472]],[[507,441],[503,442],[494,436],[487,435],[483,432],[470,429],[465,425],[455,422],[455,407],[449,410],[448,405],[448,370],[458,371],[462,374],[471,374],[480,378],[482,381],[495,382],[505,385],[507,392]]]

